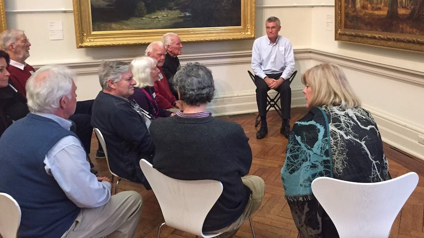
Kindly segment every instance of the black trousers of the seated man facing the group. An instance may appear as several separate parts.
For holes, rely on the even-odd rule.
[[[270,74],[267,76],[272,79],[279,79],[281,74]],[[267,95],[270,88],[264,79],[255,76],[256,84],[256,103],[258,104],[259,116],[267,115]],[[290,107],[292,104],[292,89],[290,88],[290,81],[284,80],[280,86],[275,89],[280,92],[281,115],[283,119],[290,119]]]

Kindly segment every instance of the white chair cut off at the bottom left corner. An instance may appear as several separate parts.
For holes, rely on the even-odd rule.
[[[21,224],[21,208],[7,193],[0,192],[0,234],[3,238],[16,238]]]

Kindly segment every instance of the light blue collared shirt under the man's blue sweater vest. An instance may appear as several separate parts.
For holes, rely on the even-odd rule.
[[[34,113],[47,117],[69,130],[72,123],[49,113]],[[61,138],[44,159],[44,169],[58,182],[66,196],[80,208],[96,208],[110,199],[111,184],[98,182],[90,172],[90,163],[80,140],[72,135]]]

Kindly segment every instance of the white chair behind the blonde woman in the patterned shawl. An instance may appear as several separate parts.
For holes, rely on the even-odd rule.
[[[340,238],[388,238],[394,219],[417,184],[414,172],[378,183],[319,177],[312,181],[312,192]]]

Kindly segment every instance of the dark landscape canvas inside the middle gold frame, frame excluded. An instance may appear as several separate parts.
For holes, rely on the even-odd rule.
[[[241,0],[91,0],[93,31],[241,25]],[[238,10],[237,10],[238,9]]]

